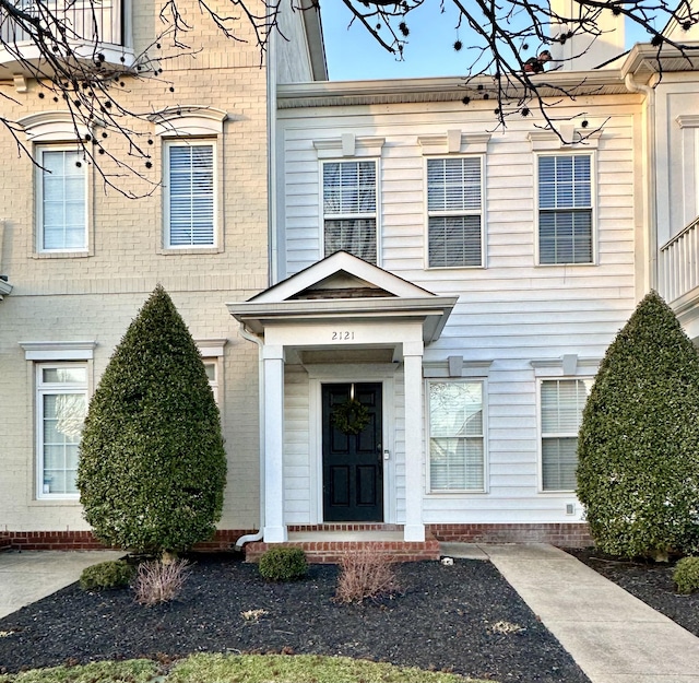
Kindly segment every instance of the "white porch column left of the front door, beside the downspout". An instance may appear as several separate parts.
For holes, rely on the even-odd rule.
[[[264,537],[287,540],[284,523],[284,346],[262,348],[264,361]]]

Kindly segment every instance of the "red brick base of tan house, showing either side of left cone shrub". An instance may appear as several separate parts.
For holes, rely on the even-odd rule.
[[[213,539],[197,543],[194,550],[216,552],[230,550],[250,530],[222,529]],[[109,550],[92,531],[4,531],[0,550]]]

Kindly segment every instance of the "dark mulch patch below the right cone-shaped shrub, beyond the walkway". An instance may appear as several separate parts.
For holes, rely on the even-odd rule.
[[[699,593],[675,592],[674,563],[625,561],[594,549],[566,552],[699,637]]]

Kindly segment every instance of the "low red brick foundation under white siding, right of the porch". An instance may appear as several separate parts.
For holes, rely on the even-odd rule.
[[[541,525],[428,525],[439,541],[461,543],[550,543],[558,547],[594,545],[584,522]]]

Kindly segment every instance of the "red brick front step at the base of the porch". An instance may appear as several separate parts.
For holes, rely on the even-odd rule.
[[[369,525],[367,525],[369,526]],[[311,564],[337,564],[347,553],[368,550],[384,555],[391,562],[422,562],[439,560],[439,541],[430,533],[425,541],[404,541],[403,531],[392,529],[362,528],[362,525],[332,525],[332,530],[317,527],[311,531],[294,531],[289,528],[286,543],[248,543],[245,546],[246,562],[258,562],[260,556],[273,547],[300,547]]]

